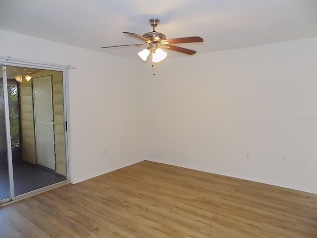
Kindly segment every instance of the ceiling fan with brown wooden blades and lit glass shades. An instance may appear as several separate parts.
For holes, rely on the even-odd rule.
[[[161,60],[164,60],[167,56],[166,52],[164,52],[162,49],[177,51],[186,55],[194,55],[196,51],[174,46],[174,44],[204,42],[204,39],[199,36],[166,39],[163,33],[156,32],[155,30],[155,28],[159,25],[159,19],[152,18],[149,20],[149,22],[150,22],[150,25],[153,27],[153,31],[147,32],[143,34],[142,36],[136,33],[123,32],[131,37],[134,37],[138,40],[143,41],[143,44],[106,46],[106,47],[102,47],[102,49],[113,48],[113,47],[123,47],[123,46],[147,46],[146,49],[138,53],[139,57],[142,60],[146,61],[148,56],[152,53],[152,62],[158,63]]]

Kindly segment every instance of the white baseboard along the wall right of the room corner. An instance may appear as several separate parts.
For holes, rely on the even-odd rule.
[[[214,170],[211,170],[211,169],[200,168],[200,167],[190,166],[190,165],[186,165],[186,164],[178,164],[178,163],[158,160],[158,159],[154,159],[154,158],[146,158],[145,160],[152,161],[152,162],[157,162],[157,163],[161,163],[161,164],[166,164],[166,165],[173,165],[173,166],[182,167],[182,168],[191,169],[191,170],[207,172],[207,173],[216,174],[216,175],[228,176],[228,177],[232,177],[232,178],[236,178],[236,179],[245,179],[245,180],[249,180],[249,181],[260,182],[260,183],[265,183],[265,184],[269,184],[269,185],[273,185],[273,186],[284,187],[284,188],[294,189],[294,190],[298,190],[298,191],[303,191],[303,192],[309,192],[309,193],[317,194],[317,191],[313,190],[311,188],[299,187],[297,185],[285,184],[285,183],[280,183],[280,182],[277,182],[277,181],[252,178],[252,177],[248,177],[248,176],[231,174],[231,173],[226,173],[226,172],[221,172],[221,171],[214,171]]]

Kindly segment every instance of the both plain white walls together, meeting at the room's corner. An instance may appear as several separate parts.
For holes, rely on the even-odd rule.
[[[147,158],[317,193],[317,38],[167,58],[154,71],[7,31],[0,39],[0,56],[77,67],[72,182]]]

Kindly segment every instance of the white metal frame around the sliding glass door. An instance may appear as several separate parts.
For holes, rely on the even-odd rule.
[[[10,132],[10,120],[9,120],[9,105],[8,105],[8,91],[7,91],[7,77],[6,77],[6,66],[18,66],[18,67],[34,67],[43,70],[55,70],[62,72],[62,86],[63,86],[63,106],[64,106],[64,133],[65,133],[65,163],[66,163],[66,180],[60,181],[18,196],[14,194],[14,181],[13,181],[13,163],[12,163],[12,149],[11,149],[11,132]],[[4,94],[4,107],[5,107],[5,129],[6,129],[6,141],[7,141],[7,159],[8,159],[8,173],[10,182],[10,197],[0,200],[0,205],[3,203],[10,203],[13,201],[18,201],[26,197],[33,196],[34,194],[41,193],[43,191],[50,190],[52,188],[61,186],[63,184],[69,183],[70,181],[70,169],[69,169],[69,148],[68,141],[70,140],[68,134],[68,115],[69,115],[69,87],[68,87],[68,70],[75,69],[76,67],[71,65],[60,65],[52,64],[39,61],[31,60],[21,60],[14,59],[11,57],[1,57],[0,56],[0,67],[3,73],[3,94]],[[67,128],[68,127],[68,128]]]

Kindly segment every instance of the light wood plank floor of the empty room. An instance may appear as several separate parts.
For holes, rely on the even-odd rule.
[[[144,161],[0,208],[0,238],[316,238],[317,195]]]

